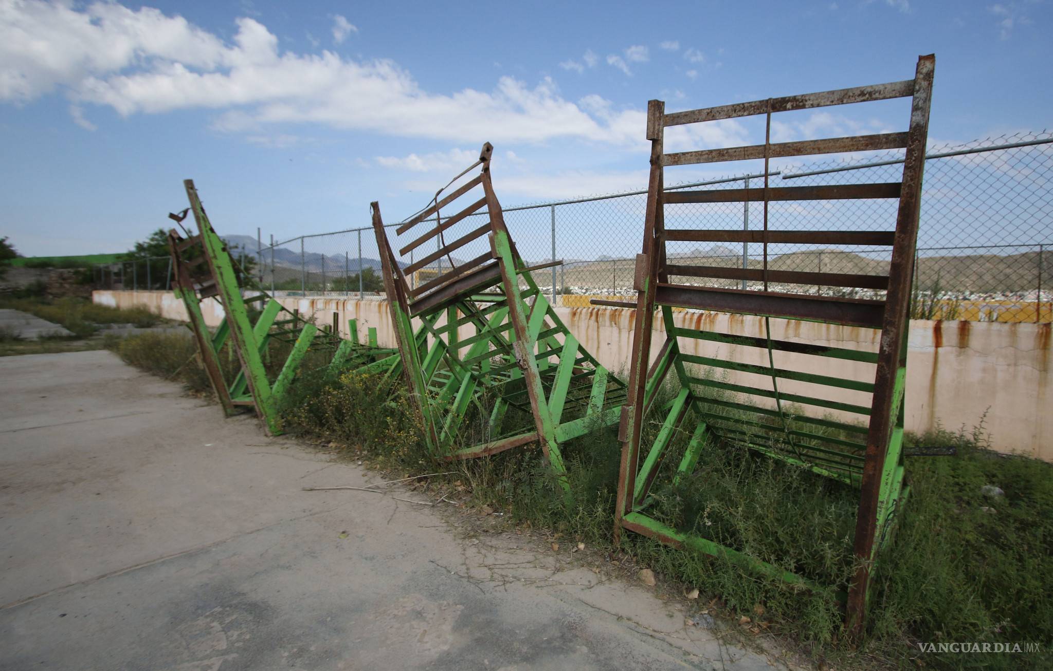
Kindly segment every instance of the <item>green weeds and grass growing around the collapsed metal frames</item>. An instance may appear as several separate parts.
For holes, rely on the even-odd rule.
[[[188,336],[178,346],[145,334],[126,339],[117,351],[130,363],[171,374],[184,354],[193,359]],[[159,363],[161,351],[167,353]],[[281,361],[279,354],[273,359]],[[466,490],[473,505],[501,510],[512,524],[552,529],[622,565],[649,567],[674,587],[697,587],[704,595],[698,603],[715,604],[733,623],[750,616],[764,635],[832,668],[1050,668],[1048,653],[921,654],[918,649],[918,643],[955,642],[1037,643],[1047,651],[1053,646],[1053,467],[985,449],[982,428],[909,438],[909,447],[954,446],[957,454],[907,458],[910,496],[875,569],[867,634],[853,646],[842,629],[837,591],[855,566],[855,489],[717,443],[706,446],[691,477],[675,487],[656,486],[651,514],[822,586],[800,589],[633,533],[623,533],[616,548],[620,448],[613,429],[564,445],[574,496],[568,508],[540,450],[438,464],[426,454],[406,401],[401,380],[356,373],[334,380],[316,366],[293,385],[283,425],[400,475],[456,470],[433,477],[430,487]],[[465,419],[465,443],[478,440],[484,410]],[[656,426],[652,418],[644,444]],[[675,468],[686,441],[686,435],[674,440],[657,482],[672,482],[668,470]],[[985,485],[1000,487],[1005,496],[984,496]]]

